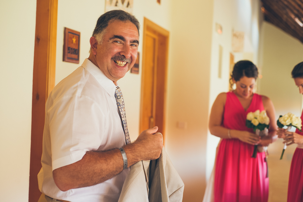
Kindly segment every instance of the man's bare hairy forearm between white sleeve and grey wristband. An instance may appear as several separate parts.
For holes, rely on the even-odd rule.
[[[119,149],[105,152],[89,151],[80,161],[53,171],[54,181],[61,191],[89,187],[113,178],[123,170]]]

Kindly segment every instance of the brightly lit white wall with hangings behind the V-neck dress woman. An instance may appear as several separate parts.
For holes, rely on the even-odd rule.
[[[209,112],[216,97],[221,92],[227,92],[229,87],[230,53],[234,54],[235,62],[252,60],[258,64],[260,22],[262,21],[261,6],[258,0],[214,0],[214,15],[212,45],[211,45],[211,73],[209,90]],[[215,30],[215,23],[221,24],[222,34]],[[233,31],[245,33],[244,50],[234,53],[231,47]],[[218,77],[219,45],[223,47],[222,76]],[[207,135],[206,177],[209,178],[214,162],[215,152],[220,138]]]

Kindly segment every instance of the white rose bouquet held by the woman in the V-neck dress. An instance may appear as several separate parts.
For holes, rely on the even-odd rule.
[[[260,135],[260,131],[263,132],[264,135],[268,135],[269,128],[269,117],[266,114],[266,111],[256,110],[255,112],[249,112],[246,116],[246,127],[252,128],[256,135]],[[254,152],[252,154],[253,158],[257,157],[257,149],[258,145],[255,145]]]

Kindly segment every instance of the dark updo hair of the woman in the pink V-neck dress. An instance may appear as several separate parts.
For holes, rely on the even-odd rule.
[[[303,71],[302,71],[303,72]],[[230,83],[232,85],[232,79],[239,81],[242,77],[258,77],[258,68],[249,60],[240,60],[234,66],[234,69],[231,73]]]

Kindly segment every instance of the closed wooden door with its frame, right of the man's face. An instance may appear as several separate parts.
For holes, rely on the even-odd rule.
[[[169,32],[144,19],[140,132],[158,126],[165,133],[165,93]]]

